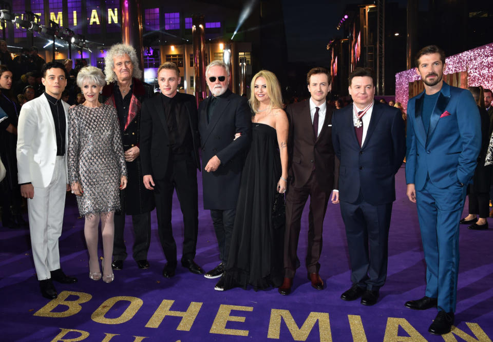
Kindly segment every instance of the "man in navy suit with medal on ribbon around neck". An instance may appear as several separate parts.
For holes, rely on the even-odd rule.
[[[352,287],[340,297],[374,305],[387,277],[394,175],[406,152],[401,111],[375,103],[375,75],[349,75],[353,104],[332,116],[332,141],[340,160],[340,212],[346,226]]]

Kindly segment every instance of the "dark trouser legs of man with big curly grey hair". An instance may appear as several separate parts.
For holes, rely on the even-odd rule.
[[[113,260],[125,260],[127,251],[123,232],[125,230],[125,216],[115,213],[115,237],[113,238]],[[132,256],[134,260],[147,259],[150,245],[150,212],[131,215],[132,227],[134,228],[134,246]]]

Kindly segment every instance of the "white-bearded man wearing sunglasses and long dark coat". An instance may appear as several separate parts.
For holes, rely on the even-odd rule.
[[[221,263],[204,274],[222,275],[230,249],[244,153],[250,145],[252,115],[247,99],[228,89],[230,72],[221,61],[205,69],[211,96],[199,106],[204,209],[211,210]],[[240,136],[235,139],[235,134]]]

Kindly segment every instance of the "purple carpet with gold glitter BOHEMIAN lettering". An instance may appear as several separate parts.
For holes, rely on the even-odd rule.
[[[200,173],[199,173],[200,177]],[[405,195],[404,168],[396,178],[389,240],[389,266],[381,298],[373,307],[339,298],[349,288],[346,235],[338,205],[329,204],[324,227],[317,291],[301,266],[293,292],[214,290],[218,279],[206,279],[181,266],[172,279],[161,275],[164,255],[156,214],[148,270],[139,270],[129,256],[111,284],[90,280],[83,219],[73,196],[67,197],[60,238],[61,264],[74,285],[55,283],[59,298],[48,301],[39,291],[28,229],[0,228],[1,341],[491,341],[493,337],[493,230],[461,226],[460,275],[456,328],[449,336],[433,336],[428,326],[435,309],[413,311],[405,301],[424,295],[425,263],[415,206]],[[199,178],[199,208],[202,208]],[[307,206],[308,207],[308,206]],[[466,206],[467,207],[467,206]],[[298,255],[304,260],[308,210],[302,218]],[[174,198],[174,235],[181,257],[183,222]],[[489,219],[489,223],[493,222]],[[127,219],[126,244],[133,236]],[[101,239],[100,239],[101,240]],[[101,246],[101,242],[100,242]],[[100,250],[102,255],[102,250]],[[131,252],[130,252],[131,255]],[[208,211],[199,211],[197,263],[205,270],[218,263],[217,243]]]

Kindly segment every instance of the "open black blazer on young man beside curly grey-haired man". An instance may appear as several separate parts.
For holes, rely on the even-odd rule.
[[[169,146],[168,126],[161,96],[156,95],[142,104],[140,119],[142,173],[144,175],[150,174],[157,179],[164,178],[168,167],[168,157],[172,153]],[[176,93],[175,100],[186,109],[194,145],[193,158],[197,169],[200,170],[198,154],[200,138],[197,128],[198,118],[195,96]]]

